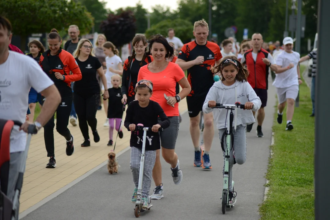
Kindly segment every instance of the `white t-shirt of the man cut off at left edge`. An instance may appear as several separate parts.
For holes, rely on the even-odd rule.
[[[24,123],[31,87],[39,93],[53,84],[33,58],[9,51],[0,64],[0,118]],[[10,153],[25,150],[26,133],[18,129],[14,126],[11,133]]]

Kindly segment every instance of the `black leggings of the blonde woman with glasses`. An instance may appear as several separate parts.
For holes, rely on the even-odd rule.
[[[89,139],[87,122],[92,132],[96,131],[96,111],[100,105],[100,93],[84,97],[74,92],[73,103],[75,105],[82,136],[87,140]]]

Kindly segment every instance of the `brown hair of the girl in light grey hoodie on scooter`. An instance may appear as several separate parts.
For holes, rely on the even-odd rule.
[[[230,62],[225,63],[225,61],[227,59],[235,60],[238,64],[238,67],[236,65],[234,65],[233,63],[230,63]],[[243,67],[242,63],[237,59],[236,56],[226,56],[226,57],[224,57],[219,64],[217,64],[217,65],[215,65],[214,67],[211,68],[212,73],[219,73],[220,72],[221,81],[224,81],[226,79],[223,77],[222,69],[226,66],[229,66],[229,65],[233,65],[236,69],[238,69],[238,73],[235,77],[236,80],[241,81],[241,82],[248,81],[248,74],[249,74],[248,69]]]

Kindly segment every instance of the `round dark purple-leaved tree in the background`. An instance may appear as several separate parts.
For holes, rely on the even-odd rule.
[[[108,41],[120,48],[129,43],[136,33],[136,20],[130,10],[121,11],[120,14],[109,14],[108,18],[101,23],[101,31]]]

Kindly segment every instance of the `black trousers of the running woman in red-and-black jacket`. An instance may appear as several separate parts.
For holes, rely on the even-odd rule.
[[[56,110],[56,131],[65,137],[67,141],[71,139],[71,133],[68,129],[69,117],[72,106],[72,96],[62,98],[61,103]],[[55,115],[55,114],[54,114]],[[54,157],[54,115],[44,126],[44,138],[47,150],[47,157]]]

